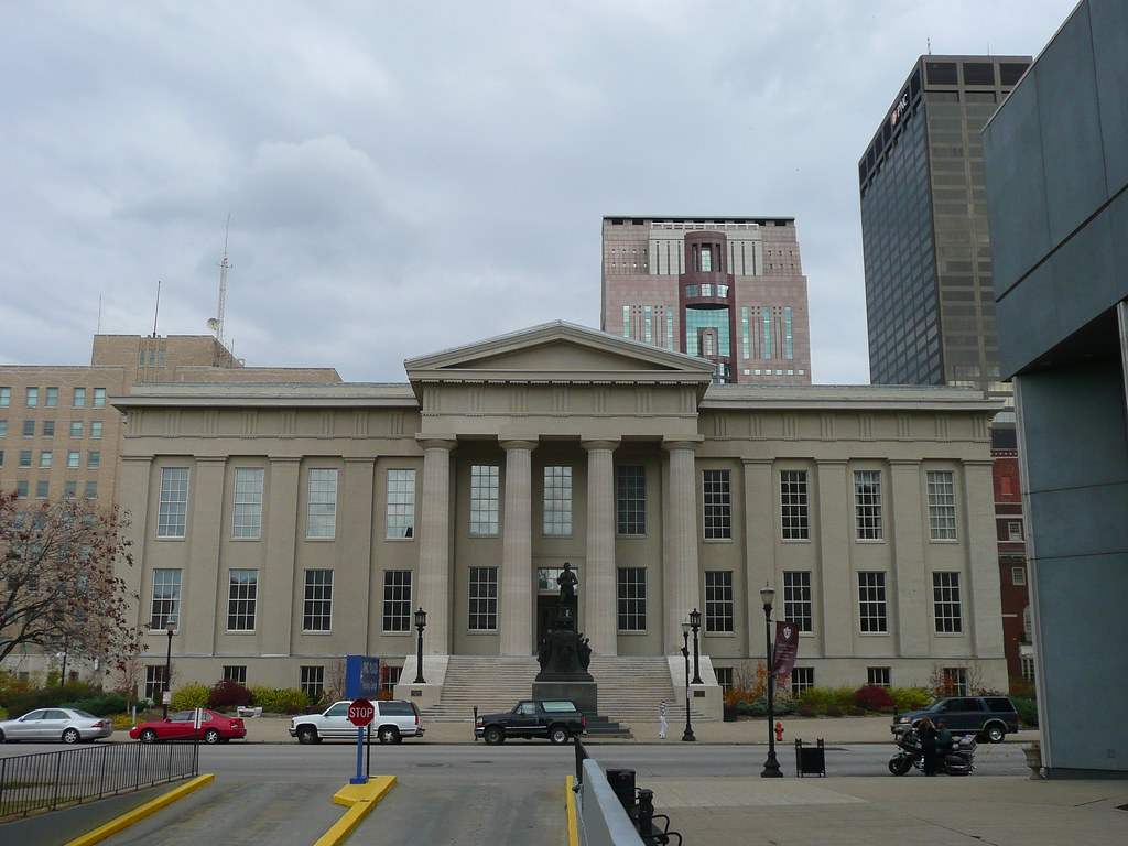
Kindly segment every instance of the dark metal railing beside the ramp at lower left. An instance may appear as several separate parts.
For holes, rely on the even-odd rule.
[[[199,775],[196,743],[94,743],[0,758],[0,819]]]

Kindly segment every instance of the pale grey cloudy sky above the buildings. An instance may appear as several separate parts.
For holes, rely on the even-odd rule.
[[[605,214],[794,217],[817,384],[869,379],[857,160],[923,53],[1074,0],[9,0],[0,362],[224,335],[250,365],[598,327]]]

